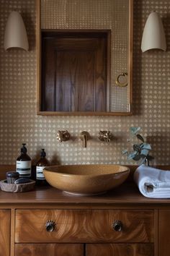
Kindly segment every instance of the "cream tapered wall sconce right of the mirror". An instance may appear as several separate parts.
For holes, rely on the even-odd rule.
[[[161,49],[166,51],[166,38],[162,20],[157,12],[151,12],[143,30],[141,50]]]

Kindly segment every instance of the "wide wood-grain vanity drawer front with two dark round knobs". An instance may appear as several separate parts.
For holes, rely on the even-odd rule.
[[[153,242],[153,210],[16,210],[15,232],[15,242]]]

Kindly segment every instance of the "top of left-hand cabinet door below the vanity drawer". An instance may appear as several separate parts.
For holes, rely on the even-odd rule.
[[[16,256],[83,256],[83,244],[15,244]]]

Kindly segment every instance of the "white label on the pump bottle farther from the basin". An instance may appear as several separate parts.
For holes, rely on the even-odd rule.
[[[31,176],[31,161],[17,161],[16,171],[19,172],[20,177]]]

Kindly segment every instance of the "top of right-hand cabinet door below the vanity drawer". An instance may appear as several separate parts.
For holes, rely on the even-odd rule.
[[[87,244],[86,256],[153,256],[153,244]]]

